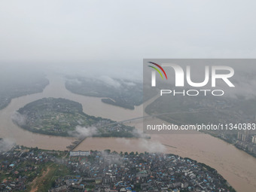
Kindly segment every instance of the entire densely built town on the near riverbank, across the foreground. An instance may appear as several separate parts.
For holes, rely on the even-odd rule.
[[[49,167],[52,175],[44,175]],[[50,192],[234,191],[215,169],[173,154],[106,150],[71,151],[66,156],[20,146],[0,153],[0,191],[29,191],[42,175]]]

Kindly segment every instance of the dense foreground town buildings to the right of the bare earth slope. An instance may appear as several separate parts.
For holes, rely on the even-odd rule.
[[[172,154],[71,153],[50,191],[230,191],[215,169]],[[82,190],[81,190],[82,191]]]

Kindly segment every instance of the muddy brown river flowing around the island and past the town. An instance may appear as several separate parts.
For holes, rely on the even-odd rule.
[[[44,97],[65,98],[80,102],[84,113],[111,120],[120,121],[143,116],[143,105],[136,106],[135,110],[108,105],[101,102],[101,98],[80,96],[69,92],[65,88],[65,79],[61,76],[49,75],[47,78],[50,84],[43,93],[12,99],[11,103],[0,111],[0,137],[27,147],[66,150],[66,146],[75,141],[74,138],[31,133],[21,129],[11,120],[11,116],[19,108]],[[141,130],[142,120],[136,120],[129,125]],[[151,135],[151,139],[88,138],[75,150],[91,149],[123,152],[161,151],[190,157],[217,169],[237,191],[256,191],[256,158],[221,139],[206,134]]]

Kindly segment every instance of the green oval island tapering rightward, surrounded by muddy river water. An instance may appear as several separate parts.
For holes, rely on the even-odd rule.
[[[53,136],[137,137],[133,126],[94,117],[80,103],[69,99],[43,98],[20,108],[14,123],[25,130]]]

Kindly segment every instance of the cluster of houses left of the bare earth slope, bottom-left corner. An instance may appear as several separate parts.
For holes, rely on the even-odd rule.
[[[55,157],[44,151],[19,146],[0,153],[0,191],[26,190],[42,168],[54,161]]]

